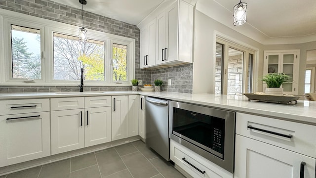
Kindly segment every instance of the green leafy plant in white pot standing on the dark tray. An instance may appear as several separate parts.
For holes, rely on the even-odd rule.
[[[283,88],[280,88],[284,82],[289,82],[290,76],[284,73],[273,73],[264,75],[261,81],[267,84],[266,94],[282,95]]]

